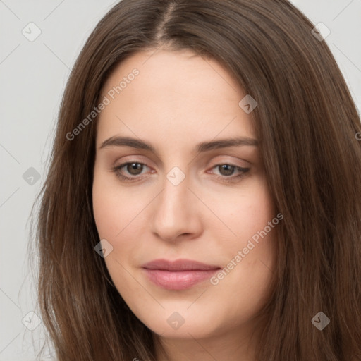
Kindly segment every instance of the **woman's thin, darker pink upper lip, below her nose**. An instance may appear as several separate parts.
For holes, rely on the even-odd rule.
[[[207,271],[209,269],[219,269],[219,266],[204,264],[202,262],[193,261],[192,259],[154,259],[142,265],[145,269],[159,269],[164,271]]]

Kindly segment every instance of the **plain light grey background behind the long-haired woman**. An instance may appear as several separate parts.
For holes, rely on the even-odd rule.
[[[0,0],[0,361],[35,360],[44,338],[42,324],[30,331],[37,318],[28,313],[36,303],[27,263],[30,210],[45,178],[70,69],[116,2]],[[326,42],[361,109],[361,0],[293,3],[331,30]],[[27,39],[36,34],[31,22],[41,30],[34,41]]]

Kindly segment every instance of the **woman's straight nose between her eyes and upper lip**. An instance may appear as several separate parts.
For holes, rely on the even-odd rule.
[[[187,177],[178,185],[165,179],[164,189],[152,202],[152,232],[158,238],[192,239],[202,233],[202,202],[188,186]]]

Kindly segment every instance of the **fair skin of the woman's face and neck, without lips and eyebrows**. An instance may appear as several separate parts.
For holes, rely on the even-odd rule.
[[[216,61],[190,50],[160,50],[123,61],[102,97],[134,68],[139,75],[97,121],[93,207],[99,239],[113,247],[104,258],[106,267],[130,309],[154,332],[158,360],[255,360],[263,327],[257,312],[271,291],[276,227],[216,286],[207,280],[187,290],[166,290],[142,269],[159,258],[224,268],[276,216],[257,146],[195,151],[204,141],[256,139],[251,114],[238,106],[246,94]],[[115,136],[149,142],[157,153],[100,148]],[[136,181],[122,181],[113,171],[127,161],[146,164],[133,173],[130,166],[118,171]],[[250,171],[233,182],[221,181],[241,173],[226,173],[222,164]],[[174,166],[185,176],[178,185],[167,178]],[[184,319],[178,329],[167,322],[173,312]]]

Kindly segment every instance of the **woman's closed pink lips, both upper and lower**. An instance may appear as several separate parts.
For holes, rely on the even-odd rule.
[[[190,259],[155,259],[143,264],[147,278],[155,285],[168,290],[185,290],[212,277],[219,266]]]

